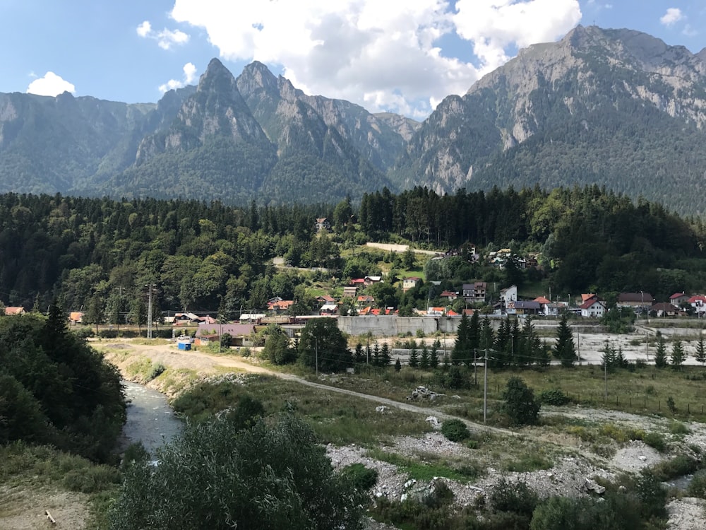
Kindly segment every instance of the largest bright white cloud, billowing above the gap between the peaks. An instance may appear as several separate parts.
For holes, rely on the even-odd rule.
[[[222,59],[281,66],[306,93],[425,117],[581,11],[578,0],[175,0],[171,15],[204,28]],[[457,59],[470,51],[476,64]]]

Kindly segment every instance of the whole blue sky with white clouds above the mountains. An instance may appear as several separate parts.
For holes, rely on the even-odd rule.
[[[420,120],[578,24],[706,47],[706,0],[0,0],[0,21],[4,93],[157,102],[217,57]]]

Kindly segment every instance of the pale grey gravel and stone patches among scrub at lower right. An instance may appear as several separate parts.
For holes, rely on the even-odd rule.
[[[389,413],[389,411],[386,411]],[[554,410],[552,413],[558,413]],[[394,413],[394,412],[393,412]],[[571,414],[572,411],[566,411]],[[577,416],[596,421],[615,423],[616,425],[632,426],[644,430],[663,430],[666,420],[662,418],[645,418],[627,413],[599,410],[582,410]],[[694,445],[706,452],[706,425],[700,423],[688,424],[690,434],[681,442],[683,446]],[[367,450],[355,445],[335,447],[328,445],[327,453],[337,468],[349,464],[361,463],[378,471],[378,483],[373,490],[374,497],[388,497],[390,500],[404,500],[409,495],[421,495],[433,488],[433,481],[410,480],[406,473],[385,461],[368,456]],[[408,457],[419,454],[433,454],[450,459],[477,459],[477,451],[468,449],[465,445],[447,440],[441,432],[429,432],[423,437],[398,437],[383,449]],[[640,440],[631,440],[616,450],[609,459],[585,452],[567,452],[563,456],[554,456],[554,466],[551,469],[531,471],[528,473],[508,473],[486,467],[486,473],[477,481],[469,484],[452,481],[448,478],[437,480],[447,483],[455,495],[458,507],[474,505],[479,496],[485,495],[501,478],[508,481],[524,481],[537,491],[540,497],[551,495],[586,495],[589,490],[600,493],[601,488],[594,480],[604,478],[612,480],[618,473],[636,473],[647,466],[670,458],[673,454],[661,454]],[[670,485],[667,484],[667,487]],[[706,502],[693,497],[677,497],[668,506],[670,530],[695,530],[706,528]],[[390,528],[371,523],[371,529]]]

